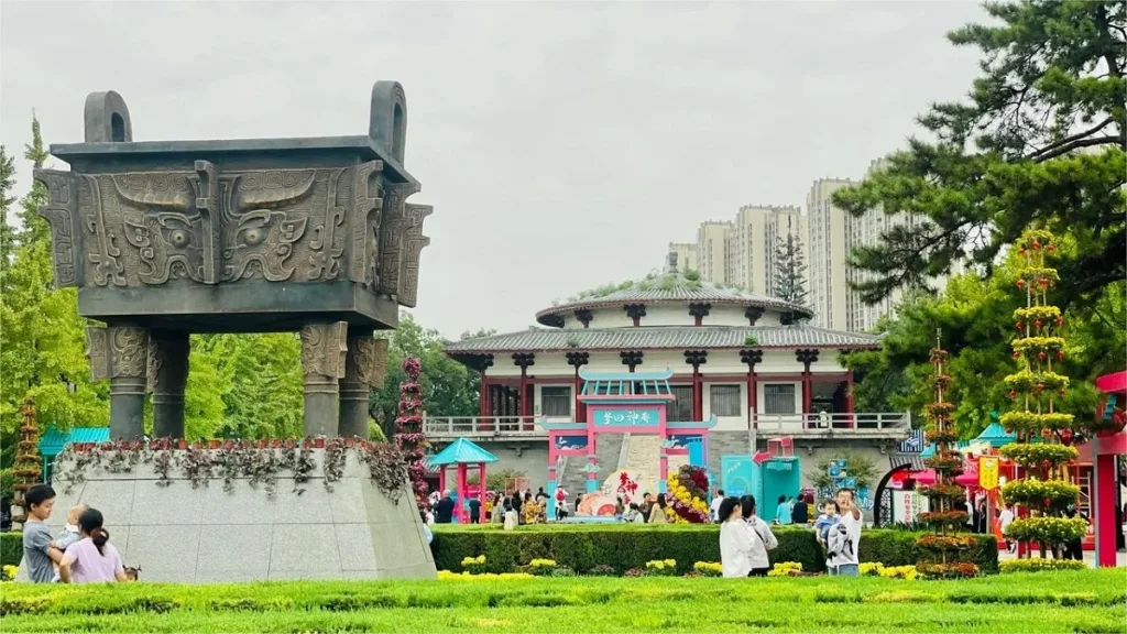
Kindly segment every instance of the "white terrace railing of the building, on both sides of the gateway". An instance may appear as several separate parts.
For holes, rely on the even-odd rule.
[[[424,416],[423,432],[434,439],[453,438],[548,438],[542,416]],[[757,414],[764,434],[849,435],[850,433],[908,433],[911,414]]]

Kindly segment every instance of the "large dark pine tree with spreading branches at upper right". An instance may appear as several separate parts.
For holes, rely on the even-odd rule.
[[[1090,305],[1127,279],[1127,3],[1091,0],[987,2],[1001,24],[948,35],[983,53],[969,99],[919,117],[925,138],[834,202],[853,214],[880,208],[914,222],[854,248],[875,273],[857,288],[876,302],[922,288],[969,259],[988,274],[1030,227],[1070,234],[1061,299]]]

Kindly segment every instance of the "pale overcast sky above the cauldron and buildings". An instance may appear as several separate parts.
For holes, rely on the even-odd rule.
[[[407,168],[433,204],[416,317],[449,337],[532,324],[637,279],[742,204],[805,206],[961,97],[977,3],[12,2],[0,141],[32,109],[82,140],[95,90],[136,141],[363,134],[372,83],[407,91]],[[55,161],[56,167],[65,164]],[[20,191],[29,168],[20,166]]]

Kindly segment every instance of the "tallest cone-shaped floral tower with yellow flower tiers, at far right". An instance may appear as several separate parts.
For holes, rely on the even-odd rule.
[[[1022,477],[1002,487],[1002,499],[1017,504],[1019,516],[1006,536],[1024,544],[1026,553],[1031,543],[1056,551],[1088,530],[1085,520],[1061,517],[1076,503],[1080,487],[1068,481],[1066,468],[1077,457],[1070,446],[1073,416],[1057,410],[1068,378],[1054,370],[1054,363],[1059,366],[1065,354],[1064,317],[1059,308],[1048,303],[1048,292],[1059,279],[1056,268],[1046,265],[1056,245],[1051,234],[1037,230],[1027,232],[1017,247],[1026,261],[1017,281],[1026,293],[1026,307],[1013,312],[1018,329],[1013,356],[1019,370],[1005,378],[1017,408],[1002,414],[1001,422],[1017,433],[1018,442],[1003,447],[1001,454],[1021,467]]]

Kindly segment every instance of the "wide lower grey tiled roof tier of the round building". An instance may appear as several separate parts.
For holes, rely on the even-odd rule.
[[[745,343],[748,336],[755,344]],[[792,326],[649,326],[637,328],[530,328],[447,343],[452,356],[578,350],[701,350],[713,347],[876,347],[877,335]]]

